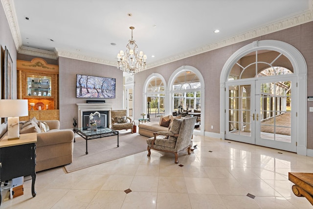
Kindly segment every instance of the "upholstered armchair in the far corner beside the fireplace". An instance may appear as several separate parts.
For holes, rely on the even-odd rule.
[[[134,133],[132,118],[126,116],[126,110],[112,110],[111,111],[111,126],[114,130],[131,129]]]

